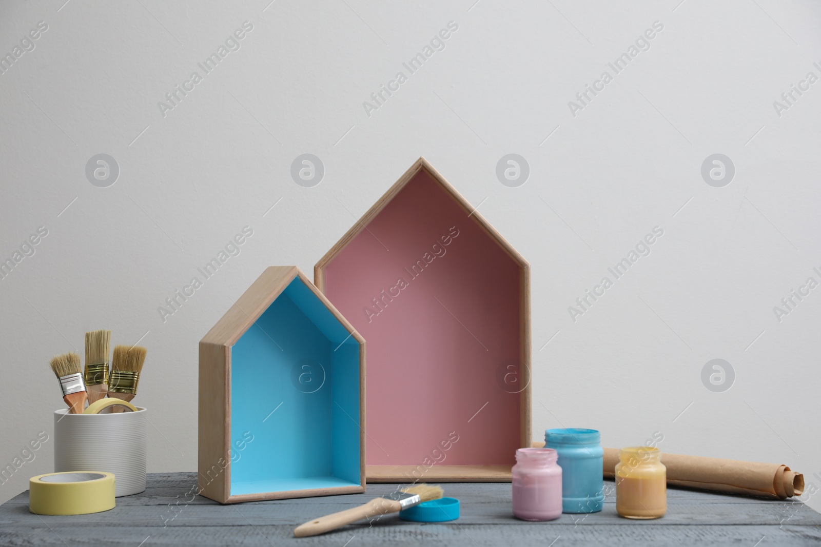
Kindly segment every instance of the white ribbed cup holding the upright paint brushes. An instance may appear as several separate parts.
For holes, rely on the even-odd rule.
[[[145,490],[145,408],[137,412],[54,412],[54,472],[114,473],[117,497]]]

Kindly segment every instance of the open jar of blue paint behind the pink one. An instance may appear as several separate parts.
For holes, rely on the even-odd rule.
[[[562,513],[598,513],[604,506],[604,450],[594,429],[548,429],[544,446],[562,467]]]

